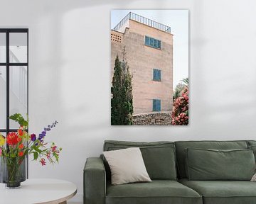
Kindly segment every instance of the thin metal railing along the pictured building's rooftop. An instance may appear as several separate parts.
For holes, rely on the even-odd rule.
[[[149,18],[145,18],[143,16],[139,16],[138,14],[132,13],[132,12],[129,12],[127,14],[127,16],[124,16],[122,21],[120,21],[117,24],[117,26],[115,26],[113,28],[113,30],[119,30],[122,26],[124,26],[125,23],[127,23],[128,20],[137,21],[137,22],[142,23],[142,24],[144,24],[146,26],[150,26],[152,28],[156,28],[156,29],[162,30],[162,31],[164,31],[166,33],[171,33],[171,27],[165,26],[164,24],[158,23],[156,21],[153,21],[153,20],[151,20]]]

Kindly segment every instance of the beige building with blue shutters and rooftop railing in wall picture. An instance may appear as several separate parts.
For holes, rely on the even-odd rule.
[[[173,35],[171,28],[128,13],[111,30],[111,74],[114,60],[125,58],[132,73],[134,115],[172,110]]]

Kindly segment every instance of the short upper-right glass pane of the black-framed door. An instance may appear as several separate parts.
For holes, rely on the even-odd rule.
[[[28,57],[27,33],[10,33],[10,62],[26,63]]]

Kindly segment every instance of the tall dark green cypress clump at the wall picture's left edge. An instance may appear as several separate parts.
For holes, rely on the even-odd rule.
[[[117,55],[114,62],[114,76],[111,87],[111,125],[132,125],[132,75],[124,59],[120,62]]]

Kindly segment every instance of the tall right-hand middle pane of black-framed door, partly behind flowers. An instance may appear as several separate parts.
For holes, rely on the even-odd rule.
[[[28,68],[24,66],[10,67],[10,115],[21,113],[26,118],[28,97]],[[18,128],[18,123],[10,121],[10,128]]]

